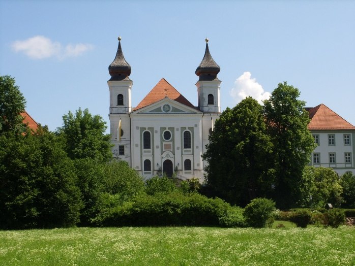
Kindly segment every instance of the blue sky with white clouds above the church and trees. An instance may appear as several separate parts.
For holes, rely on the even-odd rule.
[[[355,1],[0,0],[0,75],[15,77],[27,112],[50,130],[79,107],[108,122],[118,36],[132,106],[161,78],[197,105],[207,37],[222,110],[287,81],[307,107],[323,103],[355,125],[354,14]]]

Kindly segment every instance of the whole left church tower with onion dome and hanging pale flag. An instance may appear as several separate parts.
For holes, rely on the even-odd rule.
[[[117,53],[108,67],[111,78],[107,81],[110,91],[110,133],[113,156],[125,160],[131,165],[131,128],[129,113],[132,111],[130,80],[131,66],[123,56],[121,37]]]

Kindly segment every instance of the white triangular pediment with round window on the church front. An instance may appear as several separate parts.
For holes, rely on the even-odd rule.
[[[131,114],[199,114],[201,111],[174,101],[168,97],[151,105],[139,108]]]

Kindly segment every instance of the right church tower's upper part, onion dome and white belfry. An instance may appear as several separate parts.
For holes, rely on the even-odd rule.
[[[206,38],[205,41],[206,49],[204,56],[195,71],[195,74],[199,77],[196,83],[198,108],[204,113],[220,113],[221,81],[217,78],[217,74],[221,69],[210,54],[209,39]]]

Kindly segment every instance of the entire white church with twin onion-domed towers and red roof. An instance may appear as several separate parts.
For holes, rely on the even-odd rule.
[[[219,65],[212,58],[208,39],[198,76],[198,106],[193,106],[164,78],[132,107],[131,67],[121,38],[109,65],[110,133],[113,154],[128,162],[144,178],[173,173],[179,179],[203,181],[205,152],[214,123],[221,115]]]

